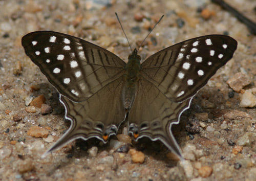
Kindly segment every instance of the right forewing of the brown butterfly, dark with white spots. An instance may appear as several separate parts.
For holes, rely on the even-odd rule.
[[[237,41],[225,35],[189,39],[146,59],[141,74],[167,98],[181,102],[194,96],[236,49]]]

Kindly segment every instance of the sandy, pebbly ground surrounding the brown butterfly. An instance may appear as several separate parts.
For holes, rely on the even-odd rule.
[[[256,19],[256,1],[226,2]],[[22,36],[37,30],[67,33],[127,61],[130,49],[114,12],[133,48],[165,15],[139,52],[142,59],[206,34],[228,34],[238,41],[233,58],[173,127],[184,162],[160,142],[142,139],[127,144],[131,141],[123,134],[108,144],[77,140],[45,159],[40,157],[70,123],[64,120],[57,91],[25,55]],[[256,180],[255,106],[240,103],[247,90],[252,93],[249,101],[255,99],[255,42],[246,26],[207,0],[0,1],[0,180]],[[236,78],[237,73],[244,79]],[[233,77],[248,85],[235,92],[226,83]],[[51,106],[50,114],[28,106],[39,95],[46,99],[44,106]]]

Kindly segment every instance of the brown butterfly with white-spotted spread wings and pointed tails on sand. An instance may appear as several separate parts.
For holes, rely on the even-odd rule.
[[[174,44],[142,63],[134,49],[125,63],[93,43],[53,31],[29,33],[22,45],[57,89],[71,121],[45,155],[79,138],[106,143],[127,121],[135,141],[160,140],[180,158],[172,125],[237,49],[229,36],[206,35]]]

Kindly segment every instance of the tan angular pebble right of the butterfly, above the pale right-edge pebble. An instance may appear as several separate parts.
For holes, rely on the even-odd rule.
[[[251,83],[247,74],[241,72],[234,74],[234,76],[227,80],[227,84],[237,93],[240,93],[242,88]]]

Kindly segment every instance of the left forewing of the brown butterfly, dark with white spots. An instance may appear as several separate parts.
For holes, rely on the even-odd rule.
[[[39,31],[22,38],[26,54],[58,90],[80,102],[124,74],[125,63],[113,53],[67,34]]]

